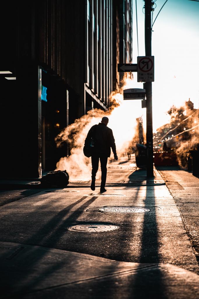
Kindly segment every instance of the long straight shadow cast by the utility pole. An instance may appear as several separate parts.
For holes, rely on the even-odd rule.
[[[145,206],[155,206],[154,186],[146,187]],[[144,213],[140,263],[159,263],[160,255],[158,248],[158,226],[157,217],[154,210],[154,213]],[[158,266],[150,272],[137,271],[134,277],[132,277],[131,283],[129,287],[132,288],[132,297],[130,296],[129,298],[167,298],[166,289],[163,282],[163,274]]]

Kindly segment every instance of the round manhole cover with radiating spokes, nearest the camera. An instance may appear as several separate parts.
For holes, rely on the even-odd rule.
[[[114,231],[117,225],[104,223],[75,224],[68,227],[70,231],[86,231],[88,233],[99,233],[101,231]]]

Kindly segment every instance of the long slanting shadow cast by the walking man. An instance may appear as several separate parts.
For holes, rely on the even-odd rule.
[[[84,202],[83,205],[78,207],[78,210],[73,211],[70,213],[70,210],[75,207],[75,205],[78,205],[80,202],[84,201],[87,199],[87,196],[83,196],[81,199],[76,201],[75,203],[67,206],[67,208],[64,208],[61,210],[58,214],[56,214],[52,219],[50,219],[49,222],[46,223],[37,233],[33,234],[29,239],[26,240],[26,244],[38,244],[37,240],[39,239],[41,242],[41,239],[45,239],[48,243],[51,243],[53,248],[56,248],[56,243],[58,240],[62,237],[63,234],[66,234],[67,231],[67,226],[70,222],[75,222],[75,220],[84,212],[84,210],[81,210],[81,207],[84,206],[87,208],[92,202],[95,201],[95,199],[98,196],[93,196],[91,199],[89,199],[87,202]],[[67,217],[68,215],[68,217]],[[67,218],[66,218],[67,217]],[[64,220],[63,220],[64,219]],[[59,222],[61,222],[59,224]],[[39,243],[40,243],[39,242]],[[34,258],[33,258],[34,257]],[[38,282],[41,282],[42,277],[45,279],[50,275],[53,271],[56,271],[62,266],[62,263],[56,263],[53,264],[53,266],[49,266],[48,269],[45,269],[42,273],[40,274],[37,279],[34,279],[32,282],[28,282],[22,289],[18,289],[18,286],[22,283],[22,281],[26,281],[27,277],[32,273],[34,266],[43,258],[43,255],[41,255],[41,251],[39,248],[33,248],[31,252],[31,257],[32,260],[30,260],[30,263],[28,267],[24,269],[23,272],[20,272],[20,275],[10,277],[10,286],[7,286],[5,288],[5,293],[4,290],[2,289],[1,294],[8,295],[8,289],[12,289],[12,292],[15,292],[15,294],[18,295],[24,292],[28,292],[31,289],[33,289],[35,286],[37,286]],[[70,261],[68,261],[68,266],[70,266]],[[67,267],[67,265],[66,265]],[[20,297],[20,295],[19,295]],[[16,297],[17,298],[17,297]]]

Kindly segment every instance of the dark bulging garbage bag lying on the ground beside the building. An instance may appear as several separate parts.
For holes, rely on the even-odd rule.
[[[65,187],[69,184],[69,174],[66,170],[56,170],[47,173],[46,176],[42,176],[41,185],[44,187]]]

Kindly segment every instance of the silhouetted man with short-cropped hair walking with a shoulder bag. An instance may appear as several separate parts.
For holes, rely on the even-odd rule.
[[[99,160],[101,164],[101,187],[100,192],[106,192],[105,184],[107,179],[107,160],[111,154],[111,148],[114,154],[114,159],[118,161],[118,156],[116,153],[115,139],[113,137],[112,130],[107,127],[109,119],[104,116],[101,123],[94,125],[90,128],[87,137],[85,139],[84,145],[87,146],[91,138],[94,140],[94,148],[91,155],[92,162],[92,181],[91,190],[95,190],[95,176],[99,167]]]

